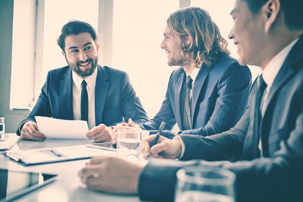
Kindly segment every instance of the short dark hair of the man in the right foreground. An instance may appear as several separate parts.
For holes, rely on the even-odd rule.
[[[252,13],[257,14],[268,0],[244,0]],[[280,0],[285,24],[290,30],[303,29],[303,0]]]

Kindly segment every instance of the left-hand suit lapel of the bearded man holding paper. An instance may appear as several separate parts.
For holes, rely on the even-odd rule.
[[[60,81],[60,99],[63,117],[66,120],[74,120],[73,112],[73,78],[72,70],[68,68]]]

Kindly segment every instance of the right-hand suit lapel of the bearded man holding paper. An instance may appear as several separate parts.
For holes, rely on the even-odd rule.
[[[110,87],[110,82],[104,67],[98,64],[98,75],[95,87],[95,119],[96,125],[102,123],[102,115],[106,102],[107,93]]]

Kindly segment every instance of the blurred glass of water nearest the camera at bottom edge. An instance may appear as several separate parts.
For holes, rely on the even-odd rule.
[[[177,171],[175,202],[235,202],[236,175],[211,166]]]

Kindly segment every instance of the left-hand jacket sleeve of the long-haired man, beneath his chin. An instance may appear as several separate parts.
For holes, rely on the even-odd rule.
[[[156,116],[154,118],[152,118],[149,122],[140,125],[143,129],[158,130],[161,122],[165,121],[166,125],[165,125],[164,129],[171,130],[174,127],[174,125],[176,124],[176,118],[175,118],[174,111],[171,106],[171,101],[170,101],[170,96],[169,96],[169,83],[170,83],[170,79],[171,79],[171,76],[173,75],[173,73],[170,75],[170,78],[168,81],[168,86],[167,86],[167,92],[165,94],[165,99],[162,102],[160,110],[158,111]]]

